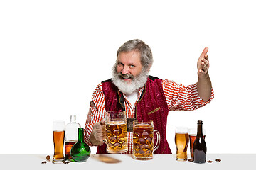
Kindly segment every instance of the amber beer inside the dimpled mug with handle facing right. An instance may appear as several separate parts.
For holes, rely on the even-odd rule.
[[[136,159],[153,158],[154,138],[153,126],[149,124],[134,125],[133,155]]]

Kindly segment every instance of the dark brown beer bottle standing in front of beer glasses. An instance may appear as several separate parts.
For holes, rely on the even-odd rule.
[[[193,162],[206,163],[206,141],[203,139],[203,121],[198,120],[196,140],[193,143]]]

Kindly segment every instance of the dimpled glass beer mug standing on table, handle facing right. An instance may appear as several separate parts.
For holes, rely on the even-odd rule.
[[[156,132],[156,145],[154,146],[154,132]],[[153,158],[153,152],[159,148],[160,133],[154,130],[152,120],[135,120],[133,123],[133,158],[148,160]]]

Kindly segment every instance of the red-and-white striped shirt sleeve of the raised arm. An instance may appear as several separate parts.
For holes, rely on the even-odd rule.
[[[203,101],[198,95],[197,84],[183,86],[182,84],[176,84],[174,81],[165,79],[162,81],[162,85],[169,111],[193,111],[210,103],[214,98],[212,88],[210,99]]]

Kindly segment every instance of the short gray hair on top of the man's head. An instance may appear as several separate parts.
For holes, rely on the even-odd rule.
[[[137,50],[140,53],[142,66],[144,69],[149,69],[153,64],[153,56],[149,45],[146,45],[142,40],[135,39],[125,42],[117,50],[117,57],[120,52],[130,52],[132,50]]]

